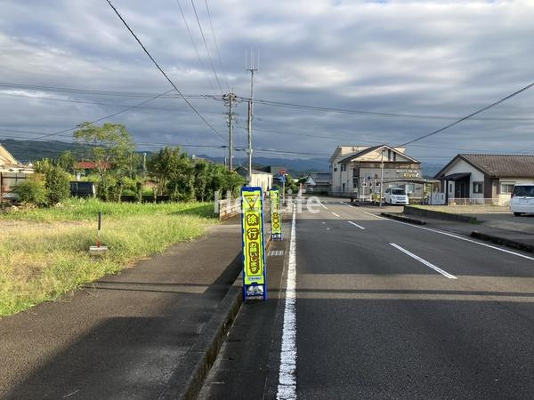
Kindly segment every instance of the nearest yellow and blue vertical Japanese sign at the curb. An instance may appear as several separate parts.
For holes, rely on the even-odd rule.
[[[262,188],[241,188],[243,300],[267,299]]]

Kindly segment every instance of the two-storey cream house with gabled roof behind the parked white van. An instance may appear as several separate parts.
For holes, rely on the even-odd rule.
[[[404,188],[410,197],[421,198],[425,183],[421,163],[405,151],[385,144],[338,146],[330,157],[330,194],[370,200],[379,195],[384,182],[384,188]]]

